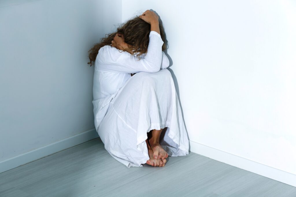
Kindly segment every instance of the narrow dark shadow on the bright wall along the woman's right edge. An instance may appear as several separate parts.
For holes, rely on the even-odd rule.
[[[151,11],[154,11],[152,9],[150,9]],[[154,11],[155,12],[155,11]],[[157,12],[155,12],[157,14],[157,16],[159,17],[159,23],[160,25],[163,25],[163,21],[161,20],[159,14]],[[169,45],[168,45],[168,40],[166,39],[166,33],[165,33],[165,28],[163,26],[163,32],[164,32],[164,43],[165,45],[167,46],[166,49],[164,50],[165,52],[165,55],[168,57],[169,61],[170,61],[170,66],[173,65],[173,60],[172,58],[168,55],[168,48],[169,48]],[[173,70],[170,69],[170,66],[167,68],[170,73],[172,74],[172,78],[173,78],[173,81],[174,81],[174,84],[175,84],[175,88],[176,88],[176,92],[177,92],[177,95],[178,95],[178,100],[179,100],[179,104],[180,104],[180,107],[181,107],[181,113],[182,113],[182,118],[183,118],[183,121],[184,121],[184,126],[185,126],[185,129],[187,131],[187,127],[186,127],[186,123],[185,123],[185,120],[184,120],[184,114],[183,114],[183,108],[182,108],[182,103],[181,103],[181,98],[180,98],[180,94],[179,94],[179,86],[178,86],[178,81],[177,81],[177,78],[176,78],[176,75],[174,74]],[[187,133],[187,137],[189,139],[189,135],[188,135],[188,132]],[[190,141],[189,141],[189,151],[190,151]]]

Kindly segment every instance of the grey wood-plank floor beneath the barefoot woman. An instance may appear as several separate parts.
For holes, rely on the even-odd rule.
[[[190,152],[127,168],[100,138],[0,173],[0,196],[296,196],[296,188]]]

